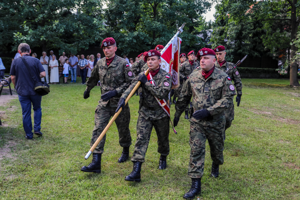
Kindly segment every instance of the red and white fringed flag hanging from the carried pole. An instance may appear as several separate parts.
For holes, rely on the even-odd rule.
[[[161,68],[172,76],[172,89],[179,87],[179,53],[181,38],[177,37],[161,55]]]

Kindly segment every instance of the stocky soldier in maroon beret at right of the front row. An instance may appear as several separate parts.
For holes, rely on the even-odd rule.
[[[194,113],[190,119],[190,163],[188,176],[192,186],[183,198],[193,199],[201,193],[201,177],[204,169],[205,142],[210,146],[211,176],[218,177],[219,165],[223,159],[223,134],[225,129],[224,111],[229,108],[230,99],[236,94],[234,86],[227,75],[214,67],[215,53],[212,49],[203,48],[197,54],[201,70],[188,77],[176,102],[174,126],[192,98]]]

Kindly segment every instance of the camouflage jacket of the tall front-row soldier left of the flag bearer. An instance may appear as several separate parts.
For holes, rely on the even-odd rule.
[[[91,77],[86,82],[86,91],[89,92],[95,87],[100,80],[101,93],[104,94],[110,90],[116,89],[118,95],[108,101],[99,100],[99,104],[106,106],[110,102],[110,107],[116,107],[123,92],[130,86],[134,79],[133,72],[126,60],[115,56],[113,62],[107,66],[106,58],[98,60],[97,64],[91,71]]]

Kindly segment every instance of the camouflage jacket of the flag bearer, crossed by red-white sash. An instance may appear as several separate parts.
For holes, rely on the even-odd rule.
[[[131,82],[131,85],[126,89],[126,91],[122,94],[123,98],[127,98],[129,93],[132,91],[134,86],[138,82],[138,77],[142,75],[143,73],[140,73],[137,77],[134,78],[134,80]],[[170,77],[168,78],[167,77]],[[155,97],[158,99],[165,99],[166,101],[169,100],[169,92],[171,90],[172,86],[172,77],[170,74],[163,69],[160,68],[158,73],[153,77],[153,80],[155,81],[156,85],[153,85],[150,82],[147,82],[144,86],[141,86],[143,88],[143,97],[144,102],[143,106],[139,110],[139,114],[144,117],[146,120],[150,118],[150,120],[158,120],[163,117],[167,116],[167,113],[160,107],[158,102],[156,101]],[[155,97],[154,97],[155,96]],[[154,106],[154,109],[148,109],[146,106]],[[156,107],[156,108],[155,108]]]

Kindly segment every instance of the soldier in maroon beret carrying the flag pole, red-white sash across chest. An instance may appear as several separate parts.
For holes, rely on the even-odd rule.
[[[169,114],[158,104],[156,98],[160,100],[169,99],[169,92],[172,86],[172,77],[170,74],[160,68],[161,53],[157,50],[150,50],[149,55],[145,56],[150,68],[150,74],[155,84],[150,83],[149,77],[140,73],[138,77],[135,77],[131,83],[131,86],[122,94],[120,98],[118,109],[125,105],[125,99],[132,91],[134,86],[141,81],[141,88],[143,89],[144,101],[139,110],[139,117],[137,120],[137,141],[134,147],[134,153],[131,157],[131,161],[134,163],[133,171],[125,177],[127,181],[141,181],[141,166],[145,162],[145,155],[149,145],[150,135],[154,126],[157,134],[158,153],[161,154],[159,159],[159,169],[165,169],[167,167],[167,155],[170,153],[169,146],[169,132],[170,122]],[[156,97],[156,98],[155,98]],[[168,102],[167,102],[168,103]],[[116,110],[116,112],[118,111]]]

